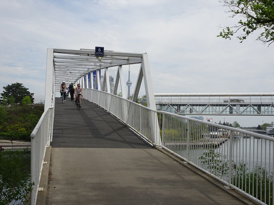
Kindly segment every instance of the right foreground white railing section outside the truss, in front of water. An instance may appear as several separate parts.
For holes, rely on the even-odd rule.
[[[273,204],[274,138],[158,112],[162,148],[261,204]]]

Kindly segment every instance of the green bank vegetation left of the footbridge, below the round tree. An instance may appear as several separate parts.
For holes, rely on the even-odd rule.
[[[43,112],[42,104],[0,106],[0,139],[30,141]],[[0,151],[0,204],[29,204],[32,186],[30,150]]]

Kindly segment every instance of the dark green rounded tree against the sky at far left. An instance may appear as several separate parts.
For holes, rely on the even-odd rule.
[[[3,87],[4,91],[1,93],[1,104],[22,104],[22,100],[25,96],[29,96],[31,103],[33,103],[33,93],[28,91],[21,83],[14,83]]]

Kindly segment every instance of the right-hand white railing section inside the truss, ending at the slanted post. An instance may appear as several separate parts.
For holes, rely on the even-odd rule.
[[[83,89],[83,96],[112,113],[151,144],[161,145],[157,111],[99,90]]]

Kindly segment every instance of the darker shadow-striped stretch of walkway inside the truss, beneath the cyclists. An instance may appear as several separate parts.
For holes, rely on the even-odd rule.
[[[66,148],[148,148],[140,138],[98,106],[82,100],[80,110],[74,101],[56,99],[51,146]]]

